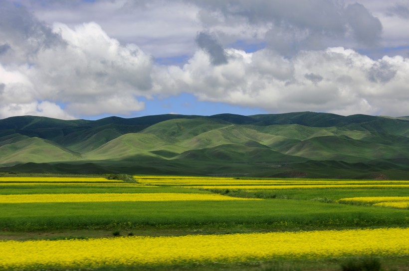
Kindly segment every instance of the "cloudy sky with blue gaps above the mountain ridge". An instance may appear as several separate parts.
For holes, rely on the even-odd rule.
[[[409,115],[409,0],[0,0],[0,119]]]

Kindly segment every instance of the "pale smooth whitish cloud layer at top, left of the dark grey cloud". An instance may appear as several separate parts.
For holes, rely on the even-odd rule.
[[[74,28],[94,21],[122,44],[134,43],[156,58],[191,55],[202,29],[199,8],[165,0],[20,0],[40,19]]]

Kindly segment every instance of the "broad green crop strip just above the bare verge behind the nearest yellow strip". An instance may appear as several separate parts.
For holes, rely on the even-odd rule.
[[[58,202],[0,204],[0,229],[53,230],[130,225],[267,225],[271,229],[409,224],[407,210],[305,200]]]

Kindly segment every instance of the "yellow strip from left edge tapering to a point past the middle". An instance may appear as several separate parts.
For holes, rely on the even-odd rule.
[[[0,203],[33,202],[112,202],[112,201],[187,201],[187,200],[261,200],[219,194],[197,193],[90,193],[90,194],[15,194],[0,195]]]

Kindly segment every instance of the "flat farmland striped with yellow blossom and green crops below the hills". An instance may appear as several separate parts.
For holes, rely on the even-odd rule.
[[[409,269],[409,181],[134,180],[0,177],[0,269]]]

